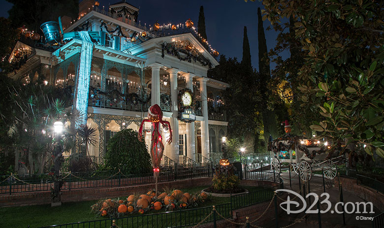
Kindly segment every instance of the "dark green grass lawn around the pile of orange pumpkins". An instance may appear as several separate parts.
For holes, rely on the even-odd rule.
[[[209,186],[203,186],[203,187],[193,187],[193,188],[186,188],[182,189],[183,192],[189,192],[189,193],[195,193],[200,192],[202,189],[208,188]],[[262,188],[260,187],[250,187],[250,186],[243,186],[248,191],[253,192],[260,190]],[[124,196],[124,198],[127,196]],[[121,197],[123,198],[123,197]],[[36,205],[36,206],[23,206],[23,207],[5,207],[0,208],[0,214],[1,214],[1,220],[0,220],[0,227],[6,228],[6,227],[12,227],[12,228],[27,228],[28,225],[30,225],[30,228],[38,228],[43,226],[51,226],[51,225],[57,225],[57,224],[66,224],[66,223],[76,223],[78,221],[93,221],[93,220],[101,220],[106,219],[103,217],[100,217],[98,215],[95,215],[91,213],[91,205],[93,205],[96,202],[96,200],[92,201],[81,201],[81,202],[68,202],[63,203],[63,206],[61,207],[51,207],[50,204],[48,205]],[[219,204],[225,204],[230,202],[230,197],[212,197],[211,200],[206,200],[199,204],[198,207],[207,207],[212,205],[219,205]],[[218,208],[219,210],[219,208]],[[229,213],[229,207],[227,206],[225,209],[223,208],[223,213]],[[135,227],[136,225],[140,225],[140,227],[159,227],[156,226],[156,224],[153,224],[154,222],[162,221],[162,223],[166,224],[166,227],[169,227],[171,225],[171,221],[178,221],[178,224],[193,224],[201,221],[206,214],[208,214],[211,211],[210,208],[207,208],[206,210],[198,211],[196,214],[196,211],[191,210],[182,210],[180,213],[167,213],[167,214],[159,214],[158,217],[153,219],[152,216],[147,216],[148,214],[155,214],[155,213],[161,213],[164,212],[164,210],[160,211],[151,211],[147,212],[144,215],[138,215],[137,213],[133,213],[131,215],[128,215],[131,218],[129,221],[126,220],[118,220],[118,225],[124,227]],[[205,216],[204,216],[205,215]],[[194,221],[192,219],[194,218]],[[212,217],[212,216],[211,216]],[[165,222],[167,220],[167,222]],[[132,223],[132,226],[130,225]],[[133,226],[133,224],[135,226]],[[110,227],[110,221],[96,224],[95,228],[97,227]],[[175,224],[172,224],[175,225]],[[82,227],[82,226],[79,226]],[[87,227],[87,226],[85,226]],[[92,226],[93,228],[94,226]],[[74,226],[74,228],[77,228],[77,226]]]

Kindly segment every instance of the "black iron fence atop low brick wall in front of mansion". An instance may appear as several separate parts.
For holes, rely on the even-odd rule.
[[[213,170],[208,167],[184,168],[175,165],[174,169],[160,172],[159,181],[173,181],[196,177],[210,177]],[[121,187],[139,184],[153,183],[153,173],[126,175],[121,171],[98,171],[98,172],[65,172],[62,173],[62,190],[96,188],[96,187]],[[50,174],[39,174],[25,176],[16,175],[0,176],[0,194],[50,191],[54,182]]]

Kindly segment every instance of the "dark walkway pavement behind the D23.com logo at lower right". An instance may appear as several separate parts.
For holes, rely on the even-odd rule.
[[[283,173],[282,177],[284,180],[284,187],[288,190],[292,190],[295,192],[299,192],[299,182],[298,182],[298,176],[293,177],[291,179],[291,186],[289,186],[289,175],[287,173]],[[321,228],[371,228],[372,227],[372,221],[370,220],[361,220],[360,216],[364,217],[373,217],[370,214],[357,214],[357,213],[345,213],[345,224],[343,225],[343,214],[338,214],[336,212],[331,213],[331,211],[334,210],[335,204],[340,201],[339,196],[339,189],[338,186],[334,186],[335,181],[334,180],[328,180],[325,179],[325,192],[329,194],[329,201],[331,202],[331,209],[324,214],[320,214],[321,217]],[[301,183],[302,184],[302,183]],[[301,189],[301,191],[303,191]],[[317,195],[320,195],[324,192],[323,191],[323,182],[321,177],[313,176],[310,181],[310,192],[315,193]],[[306,184],[306,194],[308,194],[308,184]],[[290,200],[292,200],[294,195],[290,196]],[[347,202],[353,202],[354,205],[356,205],[356,202],[365,202],[365,200],[357,197],[356,195],[352,195],[351,193],[348,193],[347,191],[343,190],[343,198],[344,203]],[[325,199],[325,196],[320,197],[320,202]],[[294,201],[299,202],[300,199],[296,198]],[[314,201],[314,196],[311,196],[311,204]],[[310,202],[307,198],[307,209],[310,207]],[[302,203],[300,203],[300,206],[298,208],[295,208],[293,204],[290,205],[291,210],[298,210],[302,208]],[[375,205],[374,205],[375,206]],[[287,205],[284,205],[285,208],[287,208]],[[320,210],[324,210],[327,207],[325,203],[320,205]],[[317,209],[317,206],[314,205],[313,210]],[[349,211],[352,211],[352,205],[349,205],[347,208]],[[359,206],[360,211],[363,211],[362,205]],[[338,207],[339,211],[342,211],[341,206]],[[356,211],[356,210],[355,210]],[[367,211],[370,211],[369,206],[367,206]],[[375,212],[375,215],[380,213],[380,211],[374,207],[373,211]],[[300,219],[304,216],[304,213],[299,214],[290,214],[288,215],[287,212],[282,214],[279,217],[279,228],[289,226],[296,219]],[[358,217],[358,219],[356,219]],[[257,224],[254,224],[257,225]],[[275,228],[276,227],[276,221],[271,221],[268,226],[262,226],[265,228]],[[307,217],[307,220],[304,220],[300,223],[297,223],[293,226],[289,226],[290,228],[319,228],[318,223],[318,214],[311,214]]]

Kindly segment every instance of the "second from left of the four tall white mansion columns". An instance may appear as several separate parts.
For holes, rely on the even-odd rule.
[[[172,118],[171,118],[171,128],[172,128],[172,144],[171,144],[171,151],[172,156],[170,159],[172,159],[175,162],[179,161],[179,120],[177,119],[178,116],[178,108],[177,108],[177,72],[179,72],[178,69],[172,68],[168,69],[167,72],[169,73],[169,81],[171,83],[171,112]]]

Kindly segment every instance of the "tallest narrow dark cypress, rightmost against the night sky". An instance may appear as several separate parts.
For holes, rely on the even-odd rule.
[[[278,136],[278,130],[276,126],[275,113],[272,111],[273,107],[268,107],[268,99],[271,95],[271,91],[268,89],[268,81],[271,79],[271,72],[269,69],[267,42],[265,40],[265,33],[260,8],[257,8],[257,22],[259,67],[258,86],[259,91],[261,93],[261,111],[264,125],[264,141],[267,142],[269,135],[272,135],[273,138]]]

